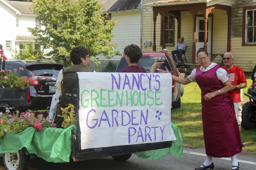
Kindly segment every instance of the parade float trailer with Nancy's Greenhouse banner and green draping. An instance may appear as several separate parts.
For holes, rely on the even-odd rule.
[[[140,85],[134,83],[130,90],[130,86],[123,81],[127,78],[130,79],[131,85],[132,79]],[[172,86],[165,85],[172,83],[170,74],[78,72],[75,82],[77,89],[72,89],[68,93],[76,103],[76,127],[72,125],[67,129],[47,128],[39,133],[33,133],[35,129],[29,127],[20,135],[19,140],[22,142],[15,141],[19,146],[14,152],[14,148],[8,148],[7,141],[13,138],[12,135],[19,134],[6,133],[9,138],[0,140],[0,148],[4,149],[3,162],[7,170],[28,169],[29,159],[36,156],[48,162],[69,162],[70,157],[73,161],[80,161],[108,156],[125,161],[132,153],[165,148],[163,153],[163,150],[158,150],[150,155],[152,159],[155,153],[162,157],[180,150],[177,146],[181,146],[179,148],[182,153],[182,140],[178,141],[179,144],[174,144],[175,150],[171,151],[170,148],[172,141],[175,142],[179,136],[174,135],[175,130],[172,130],[171,125],[169,101],[172,101]],[[104,85],[102,82],[105,82]],[[139,90],[140,87],[145,92],[143,89]],[[96,93],[98,97],[94,95]],[[132,93],[135,95],[129,97]],[[148,97],[140,95],[144,93]],[[28,145],[25,139],[32,141]]]

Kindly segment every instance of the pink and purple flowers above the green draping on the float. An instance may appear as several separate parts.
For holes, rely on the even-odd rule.
[[[6,113],[0,112],[0,139],[5,133],[20,133],[28,127],[34,127],[37,131],[49,127],[55,127],[54,123],[49,122],[49,118],[44,118],[44,115],[37,117],[30,111],[21,114],[16,111],[16,115],[6,110]]]

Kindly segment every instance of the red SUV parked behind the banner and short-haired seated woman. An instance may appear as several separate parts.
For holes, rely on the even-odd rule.
[[[165,66],[171,72],[172,75],[179,77],[180,72],[177,69],[175,62],[173,61],[172,56],[166,49],[161,51],[145,51],[142,52],[142,57],[137,63],[138,66],[145,68],[147,73],[150,72],[151,66],[155,63],[157,57],[162,57],[162,62],[164,64],[161,65],[160,69],[165,70]],[[116,67],[116,72],[121,72],[124,68],[128,67],[128,64],[125,60],[125,55],[122,56],[120,62]],[[158,72],[157,70],[155,72]],[[184,87],[180,83],[172,81],[172,107],[180,108],[181,107],[181,99],[180,97],[183,95]]]

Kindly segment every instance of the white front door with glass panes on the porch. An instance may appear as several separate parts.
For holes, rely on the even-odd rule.
[[[207,52],[211,53],[212,17],[207,21]],[[196,52],[204,47],[204,17],[196,17]],[[197,61],[196,61],[197,62]]]

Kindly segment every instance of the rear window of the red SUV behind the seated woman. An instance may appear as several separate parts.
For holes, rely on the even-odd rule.
[[[166,66],[167,69],[169,71],[171,71],[170,64],[169,64],[168,60],[166,60],[166,57],[165,56],[160,56],[160,57],[162,57],[162,62],[164,62],[164,64],[162,64],[159,69],[165,70],[165,66]],[[151,66],[155,63],[156,58],[157,58],[157,56],[141,57],[139,62],[137,63],[137,65],[139,67],[143,67],[147,71],[147,73],[150,73]],[[125,58],[122,58],[117,69],[116,69],[116,72],[121,72],[126,67],[128,67],[128,64],[127,64]],[[158,71],[156,70],[155,72],[158,72]]]

